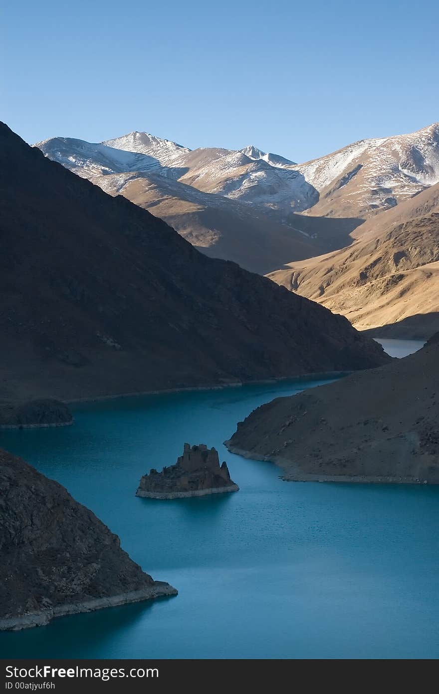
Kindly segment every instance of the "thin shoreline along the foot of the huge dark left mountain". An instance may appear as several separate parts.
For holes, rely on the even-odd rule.
[[[188,393],[188,392],[199,392],[199,391],[211,391],[211,390],[224,390],[226,388],[242,388],[251,385],[270,385],[276,384],[283,381],[301,382],[310,380],[322,380],[331,378],[341,378],[342,376],[348,376],[353,371],[319,371],[317,373],[304,373],[301,375],[291,375],[291,376],[279,376],[278,378],[262,378],[260,380],[251,381],[231,381],[228,383],[217,383],[210,384],[206,386],[185,386],[180,388],[167,388],[151,391],[134,391],[131,393],[115,393],[113,395],[99,395],[99,396],[87,396],[85,398],[70,398],[63,400],[67,405],[75,405],[76,403],[99,403],[105,400],[116,400],[117,398],[136,398],[148,395],[171,395],[172,393]],[[37,425],[38,426],[38,425]]]

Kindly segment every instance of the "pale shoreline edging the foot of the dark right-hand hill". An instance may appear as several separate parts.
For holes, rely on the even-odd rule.
[[[415,477],[389,477],[388,475],[383,476],[370,476],[365,477],[364,475],[307,475],[306,473],[287,473],[281,462],[285,462],[288,466],[292,466],[291,461],[286,458],[273,457],[270,458],[267,455],[258,455],[256,453],[251,453],[243,448],[238,448],[238,446],[233,446],[228,441],[224,441],[224,446],[230,453],[235,455],[240,455],[243,458],[250,460],[260,460],[262,462],[272,463],[278,468],[283,470],[284,475],[279,475],[283,482],[340,482],[351,484],[439,484],[439,482],[429,482],[428,480],[420,480]]]

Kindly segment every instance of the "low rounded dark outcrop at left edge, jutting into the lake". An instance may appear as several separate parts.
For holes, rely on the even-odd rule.
[[[0,403],[0,429],[63,427],[73,423],[72,412],[60,400],[30,400],[22,405]]]

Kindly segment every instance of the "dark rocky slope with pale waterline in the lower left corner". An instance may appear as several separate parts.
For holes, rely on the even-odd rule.
[[[176,595],[67,490],[0,451],[0,629]]]

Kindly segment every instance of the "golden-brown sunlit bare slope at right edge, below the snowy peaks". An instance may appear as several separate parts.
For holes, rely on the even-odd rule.
[[[439,330],[439,185],[354,235],[348,248],[292,262],[269,277],[347,316],[358,330],[401,338]]]

